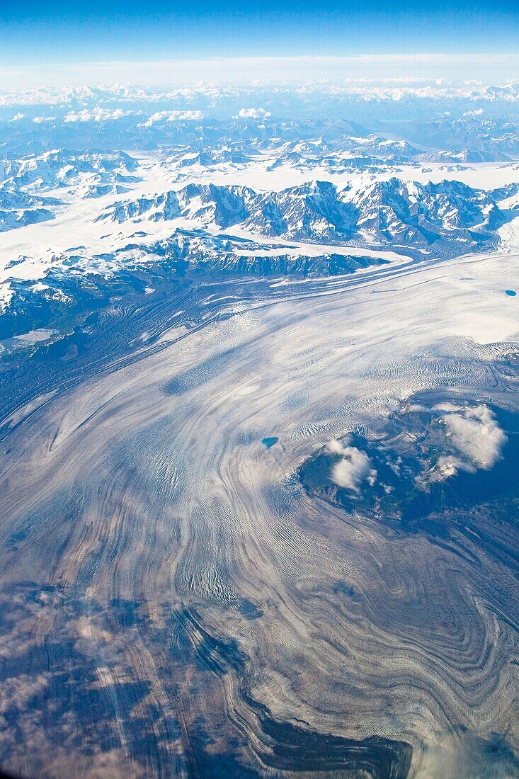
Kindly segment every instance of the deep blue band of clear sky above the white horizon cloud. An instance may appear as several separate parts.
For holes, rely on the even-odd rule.
[[[0,6],[0,65],[369,53],[517,52],[513,0],[90,0]]]

